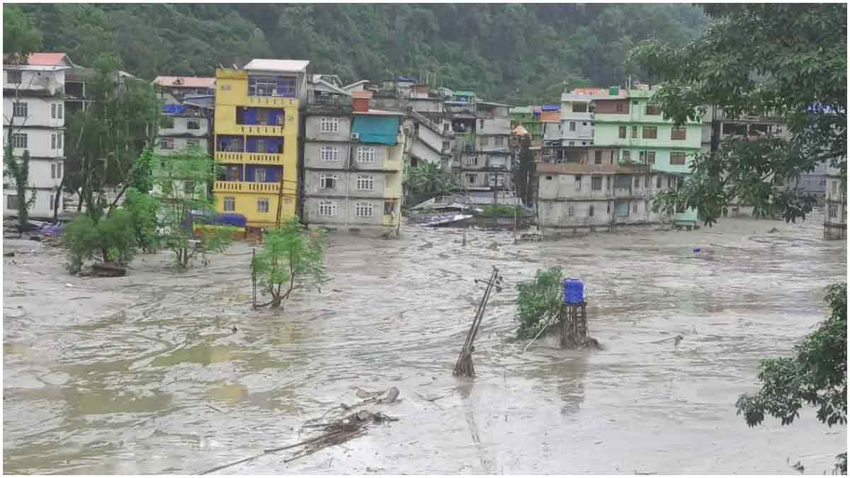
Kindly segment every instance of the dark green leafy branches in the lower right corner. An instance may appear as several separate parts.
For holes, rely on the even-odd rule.
[[[762,389],[735,404],[751,427],[765,415],[791,424],[804,404],[817,407],[818,419],[829,427],[847,423],[847,282],[827,287],[825,301],[826,321],[794,347],[795,356],[762,360]],[[847,474],[847,452],[837,458],[836,467]]]

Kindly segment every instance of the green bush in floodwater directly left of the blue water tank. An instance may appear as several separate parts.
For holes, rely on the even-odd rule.
[[[556,320],[564,304],[564,270],[553,267],[537,270],[534,280],[517,284],[519,339],[532,339],[543,327]]]

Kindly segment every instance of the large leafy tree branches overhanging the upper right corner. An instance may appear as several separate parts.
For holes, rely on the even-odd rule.
[[[710,4],[711,27],[683,47],[643,43],[631,61],[663,82],[655,94],[677,124],[703,105],[726,117],[776,117],[790,136],[735,138],[699,154],[675,202],[713,224],[730,202],[745,201],[786,221],[815,203],[794,187],[819,162],[847,174],[847,5]],[[777,32],[785,32],[777,34]],[[787,34],[793,36],[789,41]]]

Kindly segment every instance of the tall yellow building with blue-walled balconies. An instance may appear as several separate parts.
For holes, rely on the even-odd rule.
[[[299,106],[307,95],[306,60],[251,60],[216,71],[212,193],[219,213],[248,227],[274,226],[296,213]]]

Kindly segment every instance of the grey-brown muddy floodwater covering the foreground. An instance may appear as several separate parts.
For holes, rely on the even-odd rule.
[[[397,241],[331,236],[332,282],[277,311],[250,308],[247,244],[184,273],[160,253],[88,279],[56,249],[7,240],[3,470],[200,472],[309,438],[304,422],[359,401],[354,387],[395,386],[400,401],[371,409],[397,422],[218,473],[830,473],[845,426],[807,408],[750,429],[734,407],[759,359],[789,354],[825,318],[824,287],[846,280],[847,242],[822,240],[822,220],[517,245],[470,230],[466,247],[460,230],[413,225]],[[476,341],[478,377],[454,378],[474,279],[494,265],[507,287]],[[513,340],[513,286],[553,265],[586,283],[604,350]]]

